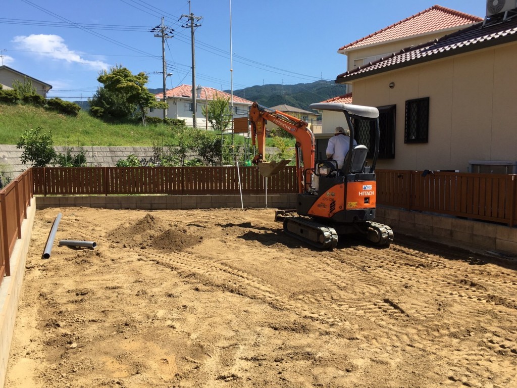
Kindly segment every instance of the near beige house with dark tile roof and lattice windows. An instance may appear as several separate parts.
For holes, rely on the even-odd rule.
[[[378,168],[515,174],[516,61],[514,8],[348,69],[336,82],[353,86],[354,104],[379,108]],[[366,131],[357,141],[368,145]]]

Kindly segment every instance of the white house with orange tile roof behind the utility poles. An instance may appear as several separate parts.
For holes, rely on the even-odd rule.
[[[199,87],[199,86],[198,86]],[[185,124],[192,127],[193,116],[192,116],[192,85],[179,85],[166,91],[167,99],[167,117],[168,118],[179,118],[185,120]],[[206,107],[208,103],[216,98],[216,96],[227,98],[231,101],[231,95],[214,89],[212,87],[201,87],[201,94],[196,94],[196,126],[197,128],[210,128],[210,123],[206,122],[206,118],[203,114],[202,108]],[[156,94],[158,101],[163,101],[163,93]],[[233,115],[234,117],[243,117],[248,114],[249,108],[253,102],[248,101],[244,98],[233,96]],[[163,118],[162,109],[154,109],[149,112],[149,117],[161,117]]]

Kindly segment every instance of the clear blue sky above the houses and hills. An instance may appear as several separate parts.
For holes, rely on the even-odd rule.
[[[174,29],[165,44],[173,74],[167,88],[190,85],[191,34],[181,16],[192,12],[202,17],[195,29],[196,84],[226,90],[233,78],[237,90],[334,80],[346,66],[340,47],[433,5],[485,14],[485,0],[436,1],[3,0],[0,64],[51,84],[49,97],[86,100],[99,86],[99,72],[115,65],[143,71],[147,87],[161,87],[161,38],[151,29],[164,17]]]

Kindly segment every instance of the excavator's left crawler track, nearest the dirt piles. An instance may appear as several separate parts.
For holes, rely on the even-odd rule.
[[[336,230],[303,217],[284,219],[284,232],[319,249],[333,249],[338,245]]]

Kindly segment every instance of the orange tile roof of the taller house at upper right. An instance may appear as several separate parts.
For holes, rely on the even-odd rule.
[[[447,31],[455,27],[467,26],[483,19],[467,13],[455,11],[439,5],[432,6],[409,18],[380,29],[373,34],[349,43],[338,49],[339,53],[345,53],[351,49],[357,49],[372,44],[384,43],[411,36],[431,34],[436,31]]]

